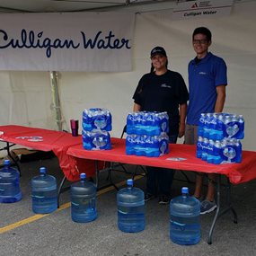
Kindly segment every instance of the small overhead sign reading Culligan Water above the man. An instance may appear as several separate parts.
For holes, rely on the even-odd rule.
[[[173,19],[191,19],[229,15],[234,0],[177,2],[172,12]]]

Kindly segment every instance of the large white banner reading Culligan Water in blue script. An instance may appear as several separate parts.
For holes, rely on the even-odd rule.
[[[0,70],[131,70],[132,13],[1,13]]]

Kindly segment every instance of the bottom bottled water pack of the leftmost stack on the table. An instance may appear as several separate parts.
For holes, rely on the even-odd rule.
[[[83,147],[86,150],[104,150],[110,149],[110,133],[100,129],[92,131],[83,130]]]

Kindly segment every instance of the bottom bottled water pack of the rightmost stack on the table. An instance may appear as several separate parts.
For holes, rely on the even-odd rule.
[[[242,144],[236,138],[214,141],[207,139],[207,137],[199,137],[197,157],[207,161],[207,163],[241,163]]]

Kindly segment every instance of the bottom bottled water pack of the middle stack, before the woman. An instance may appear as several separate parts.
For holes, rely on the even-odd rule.
[[[160,136],[128,135],[126,137],[126,153],[158,157],[169,153],[169,137],[163,133]]]

